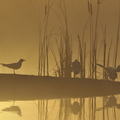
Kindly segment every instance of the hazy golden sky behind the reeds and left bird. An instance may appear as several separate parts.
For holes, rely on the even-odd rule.
[[[48,0],[54,3],[54,9],[64,23],[63,15],[57,3],[61,0]],[[31,0],[36,14],[39,16],[39,23],[44,19],[45,4],[47,0]],[[97,0],[90,0],[93,7],[93,19],[95,22],[97,11]],[[102,0],[101,0],[102,1]],[[82,36],[83,29],[89,18],[88,0],[66,0],[68,16],[68,29],[72,39]],[[0,63],[17,62],[20,58],[26,59],[23,68],[18,73],[37,73],[38,65],[38,41],[39,31],[34,8],[30,0],[0,0]],[[100,4],[98,17],[99,39],[102,39],[102,27],[107,26],[107,41],[116,39],[119,19],[119,0],[104,0]],[[60,25],[60,21],[53,10],[50,11],[48,31],[54,26]],[[58,28],[53,34],[59,34]],[[89,38],[89,22],[85,31],[85,40]],[[53,38],[55,39],[55,38]],[[54,40],[51,40],[51,42]],[[54,42],[53,42],[54,43]],[[75,58],[73,58],[75,59]],[[54,63],[53,63],[54,66]],[[29,68],[29,71],[28,69]],[[12,72],[7,68],[0,67],[1,72]]]

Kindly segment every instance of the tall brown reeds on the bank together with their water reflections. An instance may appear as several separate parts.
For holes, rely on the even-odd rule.
[[[31,2],[32,4],[32,2]],[[53,5],[57,5],[61,13],[63,15],[63,19],[61,19],[61,16],[57,11],[55,11],[52,7]],[[32,4],[33,8],[34,5]],[[106,39],[106,31],[107,26],[104,25],[102,32],[103,32],[103,39],[99,41],[99,32],[98,32],[98,23],[99,23],[99,12],[100,12],[100,6],[101,2],[100,0],[97,0],[96,3],[96,9],[93,9],[93,5],[90,1],[88,1],[88,13],[89,17],[87,20],[87,23],[83,30],[83,35],[80,37],[80,35],[77,36],[78,38],[78,49],[79,49],[79,61],[81,63],[81,78],[92,78],[92,79],[98,79],[99,73],[97,68],[97,63],[102,61],[100,64],[103,66],[109,67],[110,66],[110,59],[113,58],[113,67],[116,68],[117,64],[117,58],[118,58],[118,44],[119,44],[119,29],[120,29],[120,16],[119,16],[119,22],[118,22],[118,29],[117,29],[117,38],[116,38],[116,45],[112,46],[113,40],[111,40],[110,45],[107,44]],[[35,10],[35,8],[34,8]],[[95,12],[96,10],[96,12]],[[56,16],[58,17],[58,20],[60,21],[59,30],[60,34],[59,37],[56,38],[56,48],[57,50],[54,50],[54,46],[51,44],[51,35],[53,35],[53,30],[55,29],[55,26],[53,26],[52,30],[48,30],[49,26],[49,17],[50,17],[50,11],[53,11]],[[35,10],[36,13],[36,10]],[[95,14],[96,13],[96,14]],[[39,15],[36,14],[36,18],[38,19]],[[89,44],[86,44],[85,40],[85,31],[86,28],[89,26]],[[42,29],[41,29],[42,28]],[[42,23],[42,26],[39,23],[38,19],[38,30],[39,30],[39,54],[38,54],[38,75],[40,76],[49,76],[49,53],[52,53],[52,57],[55,61],[55,76],[57,77],[72,77],[71,76],[71,63],[72,63],[72,54],[74,50],[72,49],[72,43],[74,40],[70,37],[69,34],[69,25],[68,25],[68,17],[67,17],[67,10],[66,10],[66,3],[64,0],[60,0],[59,3],[55,3],[53,1],[50,4],[50,0],[48,0],[47,4],[45,5],[45,15],[44,15],[44,21]],[[101,42],[101,45],[99,43]],[[115,47],[114,54],[111,55],[111,48]],[[56,53],[58,51],[58,53]],[[102,51],[102,52],[101,52]],[[89,54],[88,54],[89,53]],[[56,57],[56,54],[58,54],[58,58]],[[99,57],[101,58],[100,60]],[[89,64],[89,65],[88,65]],[[86,71],[88,70],[88,74]],[[102,80],[108,79],[108,76],[106,75],[105,70],[102,71]],[[87,89],[87,88],[86,88]],[[70,105],[72,103],[72,100],[76,99],[61,99],[60,100],[60,109],[59,109],[59,120],[68,120],[71,116],[70,114]],[[96,120],[96,106],[97,106],[97,98],[91,97],[88,100],[88,106],[86,106],[86,99],[85,98],[79,98],[76,100],[80,105],[82,104],[82,109],[78,114],[79,119],[85,120],[85,111],[86,109],[89,111],[89,120]],[[106,104],[106,97],[102,98],[103,106]],[[47,106],[48,101],[38,101],[39,105],[39,116],[41,114],[45,114],[46,117],[40,118],[40,120],[47,120]],[[41,109],[41,107],[43,109]],[[103,109],[102,113],[102,119],[109,119],[109,114],[107,111],[107,118],[106,118],[106,111]],[[114,114],[115,116],[115,114]]]

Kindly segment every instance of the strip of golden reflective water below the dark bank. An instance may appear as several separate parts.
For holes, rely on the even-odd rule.
[[[120,95],[93,98],[1,101],[0,120],[119,120],[120,109],[114,106],[114,100],[111,102],[111,106],[103,109],[103,104],[106,105],[110,97],[115,98],[117,104],[120,103]],[[12,111],[13,109],[10,110],[13,106],[14,111]],[[101,109],[98,110],[99,108]]]

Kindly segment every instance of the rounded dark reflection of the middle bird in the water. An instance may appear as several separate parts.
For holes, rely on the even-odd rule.
[[[74,103],[70,106],[71,112],[72,112],[74,115],[77,115],[77,114],[81,111],[81,108],[82,108],[82,105],[80,105],[78,102],[74,102]]]

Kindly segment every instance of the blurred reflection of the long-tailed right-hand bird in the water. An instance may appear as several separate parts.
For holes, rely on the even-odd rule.
[[[117,98],[115,96],[111,96],[108,98],[108,101],[106,103],[106,105],[102,108],[98,108],[96,109],[96,111],[100,111],[104,108],[112,108],[112,107],[117,107],[118,109],[120,109],[120,104],[117,104]]]

